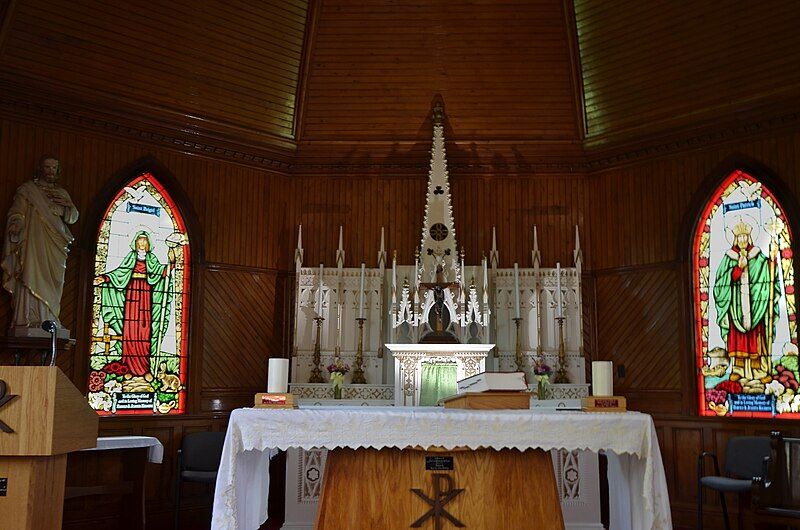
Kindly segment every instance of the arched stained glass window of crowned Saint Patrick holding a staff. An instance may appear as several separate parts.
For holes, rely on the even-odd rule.
[[[703,416],[800,418],[792,234],[772,192],[734,171],[694,233]]]

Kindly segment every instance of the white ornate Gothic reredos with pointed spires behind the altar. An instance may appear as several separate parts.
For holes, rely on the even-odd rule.
[[[457,352],[459,347],[474,347],[480,351],[476,354],[480,360],[463,355],[461,360],[457,360],[460,363],[459,377],[483,369],[515,370],[516,361],[521,358],[528,380],[535,382],[531,367],[537,358],[543,357],[551,366],[556,363],[560,343],[556,317],[561,316],[570,383],[584,383],[582,254],[577,227],[574,265],[560,267],[558,275],[555,267],[541,267],[536,227],[532,227],[530,266],[518,267],[516,274],[513,266],[499,268],[494,229],[489,258],[484,258],[480,264],[467,265],[455,236],[441,106],[434,109],[433,118],[427,199],[420,247],[415,252],[414,263],[399,265],[394,255],[391,263],[387,263],[384,230],[381,228],[377,266],[365,266],[363,275],[360,259],[353,266],[345,267],[344,229],[340,227],[335,263],[304,266],[302,227],[298,229],[293,392],[311,391],[305,385],[315,367],[317,322],[320,323],[320,364],[317,367],[327,380],[325,366],[334,362],[337,355],[352,369],[359,346],[358,319],[361,317],[366,382],[383,386],[389,392],[397,388],[399,392],[395,392],[395,402],[401,404],[404,401],[402,396],[409,395],[409,389],[405,387],[416,384],[414,367],[417,361],[442,357],[442,351],[437,353],[434,347],[437,345],[419,344],[423,337],[434,331],[434,325],[440,323],[433,314],[434,290],[430,285],[421,284],[437,281],[446,284],[441,296],[442,331],[458,342],[449,345],[452,349],[446,356],[453,358],[453,352]],[[438,279],[437,266],[442,267]],[[515,318],[520,322],[520,356],[517,356]],[[389,344],[391,348],[387,347]],[[421,350],[410,349],[412,346]],[[486,356],[492,351],[493,354]],[[412,352],[416,353],[412,355]],[[405,365],[411,369],[410,373],[401,369]],[[346,375],[346,386],[352,375],[352,370]],[[347,388],[345,390],[347,395]],[[320,391],[316,387],[313,390],[315,393]]]

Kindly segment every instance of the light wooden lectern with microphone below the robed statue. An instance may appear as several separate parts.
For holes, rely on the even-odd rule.
[[[0,381],[0,526],[61,528],[67,453],[96,446],[99,417],[55,366],[0,366]]]

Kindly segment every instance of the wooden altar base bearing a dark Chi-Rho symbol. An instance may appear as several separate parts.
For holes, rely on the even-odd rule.
[[[458,527],[563,530],[550,453],[389,448],[328,453],[316,530]]]

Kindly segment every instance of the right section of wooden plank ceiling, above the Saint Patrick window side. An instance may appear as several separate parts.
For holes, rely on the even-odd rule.
[[[800,94],[797,2],[575,0],[589,139]]]

